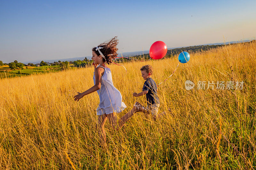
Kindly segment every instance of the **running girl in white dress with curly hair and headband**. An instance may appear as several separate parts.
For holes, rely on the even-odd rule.
[[[111,123],[112,128],[118,130],[124,126],[134,113],[145,110],[140,103],[135,103],[132,110],[121,117],[121,119],[117,120],[118,117],[116,117],[115,113],[123,111],[126,108],[126,105],[122,102],[121,93],[113,85],[110,68],[106,66],[106,63],[112,63],[111,60],[117,57],[117,44],[118,39],[114,37],[109,42],[102,43],[99,46],[92,48],[92,60],[94,61],[94,86],[83,93],[78,93],[78,95],[74,96],[75,101],[79,101],[83,96],[92,92],[97,91],[99,94],[100,104],[97,108],[97,128],[104,144],[106,142],[104,124],[107,119]]]

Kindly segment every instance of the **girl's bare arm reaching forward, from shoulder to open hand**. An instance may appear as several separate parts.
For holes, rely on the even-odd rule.
[[[84,97],[85,95],[88,95],[92,92],[95,92],[97,90],[100,89],[100,86],[101,86],[101,73],[104,72],[104,68],[102,67],[97,67],[94,69],[94,75],[95,75],[95,85],[92,86],[90,89],[84,91],[83,93],[78,93],[78,95],[74,96],[75,98],[75,101],[79,101],[82,97]]]

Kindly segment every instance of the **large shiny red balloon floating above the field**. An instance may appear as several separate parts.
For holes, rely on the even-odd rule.
[[[163,41],[154,42],[149,49],[149,56],[154,60],[163,58],[166,53],[167,46]]]

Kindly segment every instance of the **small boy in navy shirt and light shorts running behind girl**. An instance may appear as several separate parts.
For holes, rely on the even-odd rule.
[[[154,120],[156,120],[158,108],[160,106],[159,98],[157,96],[157,86],[156,82],[151,78],[153,73],[152,66],[146,65],[140,68],[141,76],[143,77],[144,82],[142,92],[133,93],[134,97],[146,95],[147,97],[147,108],[145,109],[140,103],[136,102],[134,106],[141,106],[142,112],[150,113],[153,115]],[[139,108],[138,108],[139,109]]]

